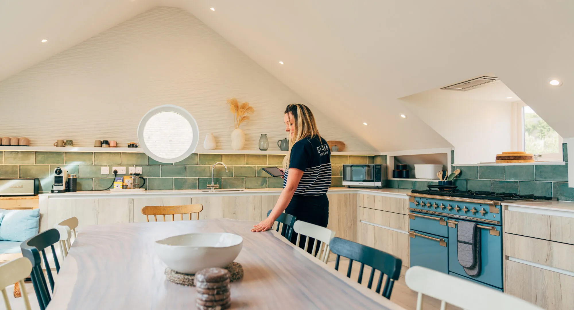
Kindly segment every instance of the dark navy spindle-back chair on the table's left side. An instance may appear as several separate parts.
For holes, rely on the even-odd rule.
[[[29,238],[28,240],[22,242],[20,245],[22,255],[30,259],[30,262],[32,262],[32,273],[30,273],[30,278],[32,278],[32,285],[34,286],[34,292],[36,292],[36,298],[38,299],[38,304],[40,305],[41,310],[44,310],[46,307],[48,307],[50,300],[52,300],[50,293],[48,292],[48,285],[46,285],[44,271],[42,270],[42,260],[44,261],[44,266],[46,267],[46,275],[48,276],[48,281],[50,282],[50,287],[52,288],[53,292],[54,277],[52,276],[52,269],[48,263],[48,257],[46,256],[45,249],[46,247],[51,247],[52,257],[56,266],[56,273],[60,272],[60,263],[58,262],[56,249],[54,248],[54,243],[59,241],[60,232],[58,232],[56,228],[52,228],[40,232],[40,234]]]

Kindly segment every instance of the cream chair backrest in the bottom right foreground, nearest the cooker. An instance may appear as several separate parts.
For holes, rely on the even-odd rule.
[[[421,266],[413,266],[406,270],[405,282],[410,289],[418,292],[417,310],[422,310],[423,295],[440,300],[441,309],[445,309],[446,304],[451,304],[465,310],[542,310],[509,294]]]

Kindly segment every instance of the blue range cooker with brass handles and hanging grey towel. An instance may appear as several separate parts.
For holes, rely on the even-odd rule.
[[[416,189],[408,195],[410,266],[424,266],[498,290],[503,290],[501,203],[556,200],[514,193]],[[461,237],[464,232],[457,235],[459,226],[469,225],[475,227],[472,242]]]

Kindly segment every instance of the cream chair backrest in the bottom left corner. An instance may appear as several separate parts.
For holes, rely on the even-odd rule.
[[[28,293],[24,286],[24,279],[32,272],[32,263],[30,259],[25,257],[16,258],[0,265],[0,288],[2,288],[2,296],[4,297],[4,304],[7,310],[11,310],[10,302],[8,301],[8,294],[6,293],[6,286],[12,285],[15,282],[20,283],[20,291],[22,299],[24,299],[24,306],[26,310],[30,310],[30,300],[28,300]]]

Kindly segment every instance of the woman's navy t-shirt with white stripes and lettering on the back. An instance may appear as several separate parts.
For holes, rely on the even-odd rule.
[[[297,141],[291,148],[289,168],[303,171],[295,195],[319,196],[331,186],[331,151],[327,141],[309,136]],[[287,185],[289,169],[285,169],[283,187]]]

